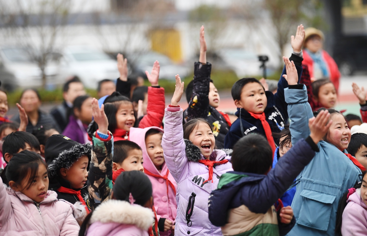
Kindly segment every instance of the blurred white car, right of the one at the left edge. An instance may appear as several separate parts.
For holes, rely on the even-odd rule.
[[[120,77],[117,61],[109,55],[86,46],[69,46],[62,52],[59,77],[65,81],[75,75],[92,89],[97,89],[98,81]]]

